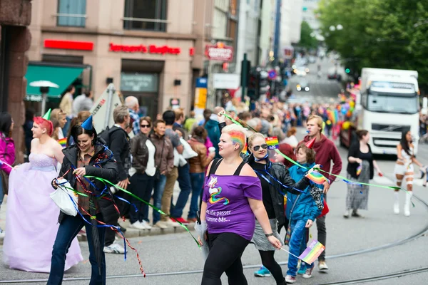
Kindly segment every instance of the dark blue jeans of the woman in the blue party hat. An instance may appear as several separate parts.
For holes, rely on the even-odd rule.
[[[85,217],[86,221],[91,220],[89,216],[83,217]],[[98,221],[103,221],[103,216],[101,214],[97,214],[96,218]],[[88,238],[89,247],[89,262],[91,262],[92,266],[91,281],[89,281],[89,285],[106,284],[106,257],[104,256],[103,252],[105,228],[98,227],[98,235],[100,238],[99,250],[101,250],[102,259],[100,275],[98,271],[98,264],[96,262],[95,250],[92,244],[92,226],[91,224],[84,222],[82,217],[77,214],[76,217],[66,215],[59,225],[58,233],[56,234],[54,243],[54,249],[52,250],[51,272],[49,274],[48,285],[62,283],[68,248],[83,226],[86,228],[86,237]]]

